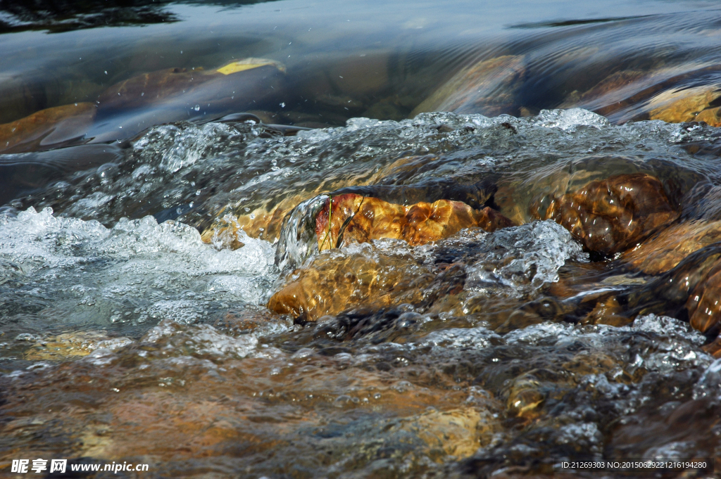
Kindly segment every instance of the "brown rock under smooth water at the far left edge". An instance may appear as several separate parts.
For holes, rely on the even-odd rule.
[[[95,111],[92,103],[68,104],[0,125],[0,153],[58,146],[81,138],[92,124]]]

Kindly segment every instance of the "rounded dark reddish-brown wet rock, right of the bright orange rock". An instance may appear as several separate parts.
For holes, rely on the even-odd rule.
[[[594,180],[575,192],[543,197],[531,215],[567,228],[586,249],[614,254],[635,246],[678,212],[663,185],[647,174],[622,174]]]

